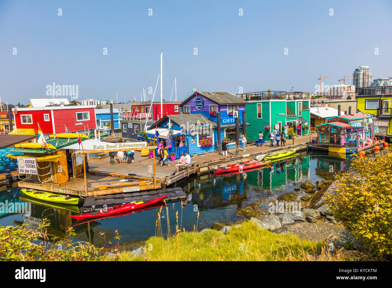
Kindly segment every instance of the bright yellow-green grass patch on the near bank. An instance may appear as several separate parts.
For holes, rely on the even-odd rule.
[[[173,237],[151,237],[145,256],[129,258],[120,252],[120,261],[340,261],[341,253],[329,254],[323,242],[301,240],[292,234],[274,234],[248,221],[224,235],[216,230],[203,233],[178,231]]]

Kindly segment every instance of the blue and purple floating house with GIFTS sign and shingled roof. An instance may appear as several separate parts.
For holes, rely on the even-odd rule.
[[[158,138],[166,141],[169,152],[175,153],[176,157],[181,152],[193,155],[217,150],[218,144],[221,145],[225,137],[229,139],[228,148],[235,148],[236,124],[233,114],[235,110],[239,110],[241,136],[244,127],[243,111],[247,104],[247,101],[227,92],[195,92],[179,105],[180,115],[164,116],[148,128],[147,135],[153,139],[158,131]],[[218,111],[220,143],[217,134]]]

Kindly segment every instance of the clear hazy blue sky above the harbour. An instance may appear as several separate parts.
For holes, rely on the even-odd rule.
[[[78,100],[84,89],[85,99],[115,100],[117,90],[119,102],[138,101],[156,85],[161,51],[165,100],[174,77],[179,100],[193,86],[315,92],[320,75],[336,85],[359,65],[392,77],[388,0],[35,2],[0,0],[3,102],[42,98],[53,82],[78,85]]]

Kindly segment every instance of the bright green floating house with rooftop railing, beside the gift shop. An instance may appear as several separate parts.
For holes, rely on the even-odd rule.
[[[258,140],[260,131],[263,139],[269,141],[274,127],[279,127],[285,138],[289,138],[288,128],[293,128],[298,136],[310,133],[310,100],[303,92],[263,91],[237,94],[237,97],[249,102],[245,107],[250,124],[248,141]],[[305,125],[308,129],[304,129]]]

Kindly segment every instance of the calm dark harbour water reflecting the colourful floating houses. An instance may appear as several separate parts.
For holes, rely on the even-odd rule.
[[[319,152],[297,153],[294,158],[273,162],[271,167],[260,170],[231,174],[226,176],[204,175],[192,177],[179,183],[187,193],[188,198],[182,209],[182,227],[193,230],[198,221],[198,230],[210,228],[214,222],[238,221],[241,217],[236,213],[243,206],[265,199],[270,196],[279,196],[286,192],[294,192],[302,182],[310,179],[315,183],[317,179],[331,179],[334,172],[344,171],[350,159],[328,156]],[[333,169],[333,173],[329,172]],[[0,192],[0,202],[21,202],[22,193],[18,187],[4,189]],[[23,202],[23,201],[22,201]],[[168,203],[171,231],[175,231],[178,211],[181,221],[181,202]],[[163,209],[165,218],[162,219],[162,231],[167,232],[166,208]],[[200,211],[197,219],[197,211]],[[32,203],[31,215],[5,214],[0,212],[0,226],[29,224],[31,227],[38,225],[41,219],[47,217],[51,221],[49,234],[63,237],[67,227],[76,220],[68,217],[75,212],[47,205]],[[121,244],[133,248],[140,241],[154,235],[156,209],[152,208],[135,214],[113,217],[98,221],[91,221],[74,226],[75,240],[90,241],[94,245],[102,246],[104,240],[99,236],[105,232],[106,240],[113,238],[114,230],[121,236]],[[166,234],[166,233],[165,233]],[[140,246],[140,245],[139,245]]]

